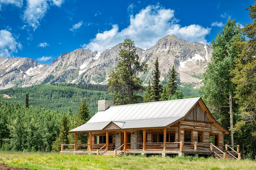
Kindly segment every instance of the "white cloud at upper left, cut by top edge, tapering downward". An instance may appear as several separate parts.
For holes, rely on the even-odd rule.
[[[63,2],[63,0],[27,0],[23,20],[35,30],[40,25],[40,21],[45,16],[49,5],[60,7]]]

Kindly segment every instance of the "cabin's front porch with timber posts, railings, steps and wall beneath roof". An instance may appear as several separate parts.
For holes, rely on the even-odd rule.
[[[208,155],[221,159],[240,159],[239,146],[225,145],[226,152],[224,152],[224,146],[221,142],[215,142],[218,146],[212,144],[214,141],[210,141],[209,132],[204,132],[202,140],[198,141],[198,136],[202,132],[197,132],[194,129],[191,131],[191,137],[187,134],[184,136],[184,129],[180,130],[181,125],[179,124],[161,129],[90,131],[88,132],[87,144],[77,144],[77,133],[75,133],[75,144],[62,144],[60,152],[113,156],[121,154],[161,154],[163,157],[167,155],[183,156],[185,154]]]

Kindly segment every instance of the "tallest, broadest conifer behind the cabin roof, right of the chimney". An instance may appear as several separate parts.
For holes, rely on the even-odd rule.
[[[138,73],[145,73],[147,64],[145,62],[140,63],[136,46],[131,39],[125,39],[119,47],[119,62],[115,71],[109,76],[108,93],[113,95],[114,105],[142,102],[143,98],[139,93],[142,93],[144,88]]]

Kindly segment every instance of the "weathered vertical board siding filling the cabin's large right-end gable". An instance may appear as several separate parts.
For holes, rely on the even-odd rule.
[[[196,120],[203,122],[210,122],[209,118],[206,116],[205,111],[197,104],[193,110],[191,110],[185,117],[185,120]]]

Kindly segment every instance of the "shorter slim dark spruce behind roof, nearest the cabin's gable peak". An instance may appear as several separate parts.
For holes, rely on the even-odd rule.
[[[178,83],[176,82],[176,79],[177,79],[177,72],[174,69],[174,65],[172,65],[171,73],[168,77],[168,82],[167,82],[168,96],[174,95],[178,88]]]

